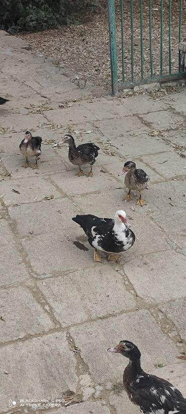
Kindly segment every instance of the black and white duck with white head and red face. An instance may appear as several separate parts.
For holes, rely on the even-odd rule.
[[[135,235],[123,210],[115,213],[114,220],[101,219],[91,214],[77,215],[72,220],[82,227],[90,246],[94,247],[94,261],[102,263],[98,250],[108,253],[108,260],[118,261],[118,256],[114,253],[130,249],[135,242]]]

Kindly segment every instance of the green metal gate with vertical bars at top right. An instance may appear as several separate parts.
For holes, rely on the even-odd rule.
[[[184,0],[183,0],[184,1]],[[176,2],[176,4],[174,3]],[[109,5],[109,30],[110,30],[110,54],[111,54],[111,77],[112,93],[117,95],[119,90],[133,88],[151,82],[166,82],[185,77],[181,72],[180,51],[178,43],[181,41],[182,0],[108,0]],[[166,9],[165,9],[166,6]],[[144,7],[147,22],[144,26]],[[176,9],[176,12],[174,8]],[[128,15],[126,9],[128,8]],[[173,9],[173,12],[172,12]],[[116,13],[117,11],[117,13]],[[135,18],[136,13],[137,18]],[[156,12],[154,12],[156,11]],[[166,13],[165,13],[166,11]],[[154,23],[153,15],[158,14],[159,19]],[[119,18],[118,18],[119,16]],[[116,24],[117,17],[117,24]],[[172,25],[173,18],[173,25]],[[118,22],[120,20],[120,22]],[[138,20],[138,21],[137,21]],[[126,27],[128,25],[128,28]],[[136,26],[137,25],[137,26]],[[147,27],[148,26],[148,27]],[[159,28],[159,29],[158,29]],[[144,54],[144,29],[146,36],[146,48]],[[135,33],[138,30],[140,61],[135,60]],[[159,44],[157,45],[157,34],[159,30]],[[172,37],[174,31],[174,39]],[[166,36],[165,35],[166,31]],[[176,33],[175,33],[176,31]],[[119,36],[118,36],[119,34]],[[176,37],[176,38],[175,38]],[[185,37],[185,36],[184,36]],[[129,45],[130,40],[130,45]],[[156,57],[158,50],[159,66],[154,71],[154,49],[153,42],[156,41]],[[172,46],[172,40],[174,46]],[[126,50],[126,41],[128,49]],[[172,49],[173,47],[173,49]],[[166,51],[167,58],[164,59]],[[175,59],[172,63],[172,51]],[[126,53],[127,52],[127,53]],[[144,70],[144,56],[147,56],[149,68]],[[146,59],[146,57],[145,57]],[[166,61],[165,61],[166,60]],[[120,61],[120,70],[119,70]],[[129,69],[130,62],[130,69]],[[145,61],[146,63],[146,61]],[[136,74],[138,68],[138,74]],[[130,70],[130,73],[129,73]],[[139,73],[140,70],[140,73]]]

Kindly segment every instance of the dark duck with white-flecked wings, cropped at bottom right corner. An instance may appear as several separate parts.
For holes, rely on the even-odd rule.
[[[129,359],[123,374],[124,388],[130,400],[144,414],[186,413],[186,399],[168,381],[146,374],[140,364],[141,354],[134,343],[121,340],[109,352],[121,354]]]

